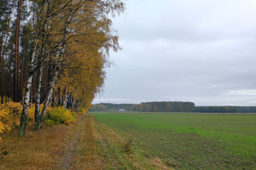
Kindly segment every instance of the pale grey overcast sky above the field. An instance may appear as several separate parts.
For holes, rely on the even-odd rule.
[[[93,103],[256,105],[256,0],[127,0]]]

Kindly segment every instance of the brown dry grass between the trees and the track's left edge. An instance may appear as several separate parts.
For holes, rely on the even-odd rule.
[[[5,136],[0,145],[0,154],[8,151],[0,158],[0,169],[55,169],[79,123],[43,128],[39,132],[28,127],[26,136],[21,138],[15,130]]]

